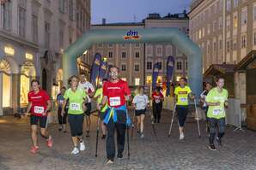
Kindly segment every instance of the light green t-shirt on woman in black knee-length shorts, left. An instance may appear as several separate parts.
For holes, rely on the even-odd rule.
[[[79,87],[76,92],[72,91],[71,88],[65,91],[64,99],[69,99],[69,114],[83,114],[82,103],[86,95],[86,92]]]

